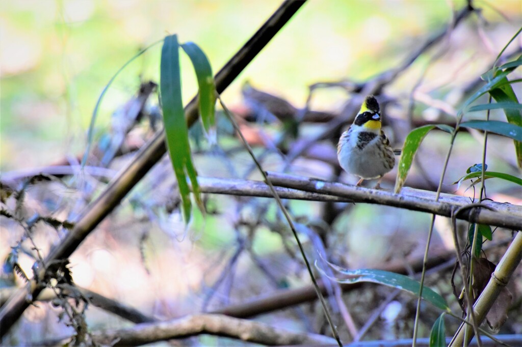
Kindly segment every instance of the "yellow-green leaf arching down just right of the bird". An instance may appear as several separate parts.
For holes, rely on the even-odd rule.
[[[426,137],[426,135],[433,130],[434,128],[439,128],[446,132],[453,132],[454,129],[445,124],[439,125],[427,125],[417,129],[413,129],[406,140],[404,141],[404,146],[402,147],[402,153],[399,159],[399,166],[397,170],[397,179],[395,180],[395,193],[398,194],[406,181],[406,177],[408,176],[408,172],[410,171],[411,164],[413,163],[413,158],[419,149],[419,146]]]

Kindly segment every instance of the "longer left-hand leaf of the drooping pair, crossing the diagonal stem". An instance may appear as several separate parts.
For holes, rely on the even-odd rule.
[[[196,169],[192,163],[188,129],[181,95],[180,55],[177,35],[167,36],[161,49],[160,95],[165,138],[182,200],[185,222],[191,219],[192,203],[186,175],[200,201]]]

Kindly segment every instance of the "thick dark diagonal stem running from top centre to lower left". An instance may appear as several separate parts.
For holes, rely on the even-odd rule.
[[[274,35],[290,20],[290,18],[304,4],[304,1],[285,1],[275,13],[263,24],[250,40],[236,53],[229,62],[217,73],[216,90],[221,93],[261,51],[261,49],[274,37]],[[188,126],[192,126],[197,120],[196,97],[185,107]],[[122,201],[129,191],[141,178],[155,165],[165,154],[165,135],[161,130],[156,133],[141,150],[131,163],[123,168],[118,176],[109,184],[109,187],[87,207],[81,214],[73,230],[62,240],[46,257],[45,263],[49,264],[56,259],[69,257],[80,245],[88,234],[108,216],[112,210]],[[30,294],[37,297],[43,288],[37,286],[34,281],[30,286]],[[23,311],[29,306],[26,299],[27,292],[19,290],[2,307],[0,311],[0,337],[13,326]]]

